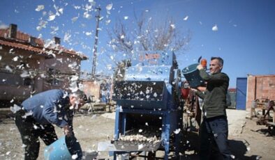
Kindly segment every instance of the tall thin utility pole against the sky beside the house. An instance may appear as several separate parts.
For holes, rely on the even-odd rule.
[[[101,8],[97,7],[98,15],[96,15],[96,37],[94,39],[94,58],[93,58],[93,66],[91,68],[91,76],[94,78],[96,75],[96,52],[98,49],[98,26],[99,26],[99,19],[101,18],[100,12]]]

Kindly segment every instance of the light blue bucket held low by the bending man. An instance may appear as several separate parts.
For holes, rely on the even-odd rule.
[[[71,138],[63,136],[45,148],[44,159],[66,160],[66,159],[72,159],[72,155],[74,154],[77,155],[75,159],[82,158],[82,150],[80,147],[80,143],[77,142],[77,139],[74,136]]]

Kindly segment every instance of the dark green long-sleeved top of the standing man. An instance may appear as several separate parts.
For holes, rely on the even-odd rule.
[[[196,92],[199,97],[204,99],[202,111],[205,117],[226,116],[226,94],[229,85],[228,75],[223,72],[210,75],[205,70],[200,70],[200,77],[207,82],[205,93]]]

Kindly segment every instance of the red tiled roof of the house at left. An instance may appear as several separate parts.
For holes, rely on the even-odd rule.
[[[29,43],[29,38],[31,37],[31,35],[27,33],[22,33],[21,31],[17,31],[16,38],[8,38],[8,33],[9,33],[8,29],[0,29],[0,45],[5,45],[8,47],[13,47],[17,49],[24,49],[27,51],[34,51],[39,54],[45,53],[45,50],[53,50],[57,52],[61,51],[61,53],[64,53],[64,54],[78,56],[82,60],[88,59],[88,57],[85,56],[84,54],[78,54],[76,51],[66,49],[61,45],[54,46],[54,48],[51,48],[51,46],[48,48],[44,48],[45,43],[40,38],[35,38],[35,42],[36,42],[35,46],[31,45]]]

